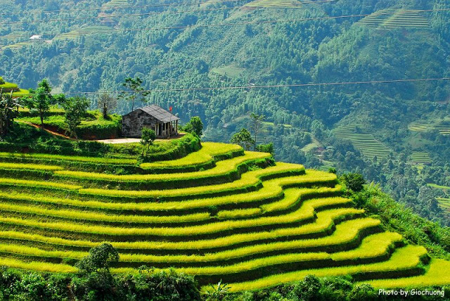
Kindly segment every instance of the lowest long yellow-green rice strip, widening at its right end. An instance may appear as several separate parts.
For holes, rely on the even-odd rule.
[[[420,263],[420,257],[426,254],[426,250],[420,246],[408,245],[404,248],[399,248],[389,260],[384,262],[377,262],[373,264],[360,264],[349,267],[330,267],[325,269],[307,269],[304,271],[294,271],[291,273],[277,274],[274,276],[259,278],[256,281],[246,281],[242,283],[229,283],[231,292],[238,292],[241,290],[257,290],[260,288],[267,288],[277,286],[281,283],[289,283],[298,281],[307,275],[316,275],[319,277],[325,276],[344,276],[366,271],[401,271],[417,267]]]

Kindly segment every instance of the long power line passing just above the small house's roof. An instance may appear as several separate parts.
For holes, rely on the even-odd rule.
[[[356,84],[389,84],[399,82],[437,82],[440,80],[450,80],[450,77],[440,78],[425,78],[425,79],[386,79],[386,80],[371,80],[365,82],[326,82],[326,83],[311,83],[311,84],[265,84],[265,85],[248,85],[248,86],[233,86],[233,87],[198,87],[198,88],[171,88],[171,89],[150,89],[141,91],[96,91],[96,92],[65,92],[65,95],[95,95],[95,94],[118,94],[118,93],[155,93],[155,92],[181,92],[181,91],[213,91],[213,90],[248,90],[248,89],[270,89],[270,88],[298,88],[298,87],[326,87],[326,86],[348,86]]]

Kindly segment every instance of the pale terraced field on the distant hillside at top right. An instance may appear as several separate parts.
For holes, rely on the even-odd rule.
[[[359,24],[380,30],[394,28],[429,29],[430,23],[420,13],[409,10],[383,9],[377,11],[358,22]]]

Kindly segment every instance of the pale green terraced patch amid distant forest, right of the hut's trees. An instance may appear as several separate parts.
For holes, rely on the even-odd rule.
[[[335,135],[340,139],[352,141],[353,146],[369,159],[385,158],[391,152],[383,143],[376,140],[372,134],[364,134],[364,125],[349,124],[335,129]]]

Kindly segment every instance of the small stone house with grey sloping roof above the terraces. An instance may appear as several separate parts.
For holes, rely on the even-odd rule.
[[[142,129],[153,129],[158,138],[178,135],[179,117],[172,115],[158,105],[148,105],[122,116],[122,135],[141,137]]]

